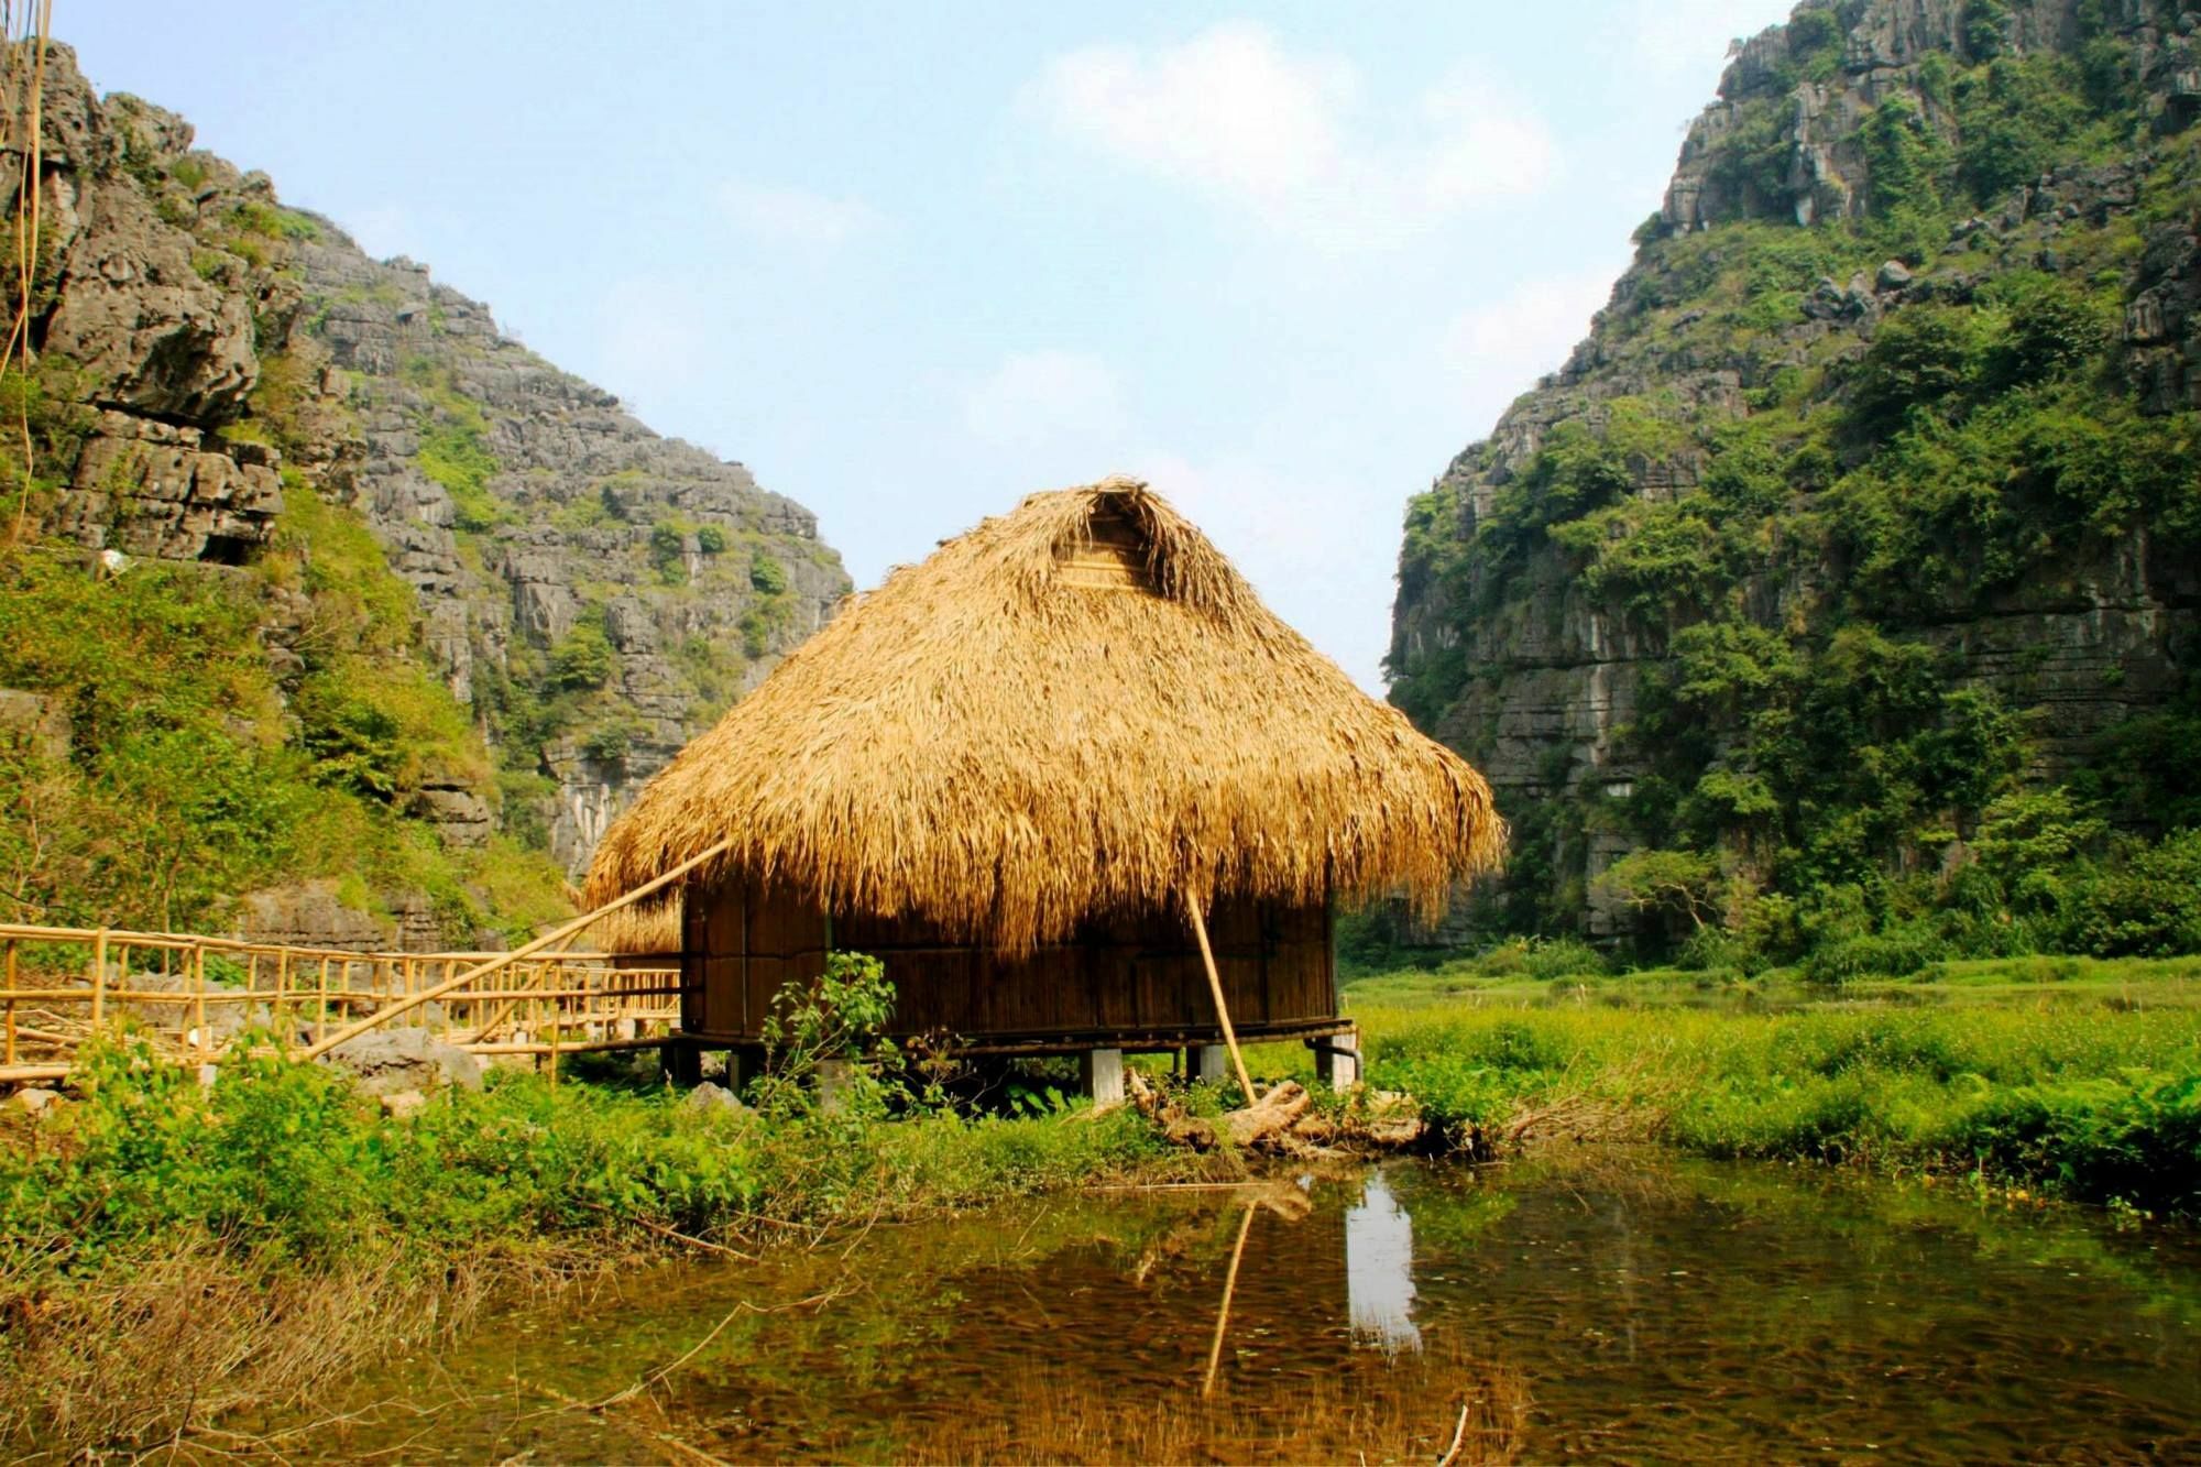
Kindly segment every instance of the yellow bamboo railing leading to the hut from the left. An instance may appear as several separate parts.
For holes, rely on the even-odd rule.
[[[484,971],[460,982],[473,969]],[[449,1044],[541,1055],[555,1073],[561,1053],[665,1044],[680,1024],[680,963],[603,952],[500,963],[0,923],[0,1084],[66,1079],[81,1044],[121,1024],[178,1064],[218,1064],[238,1044],[306,1057],[398,1011]]]

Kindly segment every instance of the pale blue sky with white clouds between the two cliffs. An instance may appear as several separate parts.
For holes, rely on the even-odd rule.
[[[92,84],[817,511],[856,582],[1134,471],[1367,687],[1785,0],[59,0]]]

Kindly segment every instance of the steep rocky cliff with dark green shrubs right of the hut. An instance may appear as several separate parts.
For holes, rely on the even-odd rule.
[[[2128,421],[2190,443],[2197,108],[2201,18],[2146,0],[1814,2],[1737,51],[1589,339],[1409,515],[1393,698],[1514,817],[1510,921],[1627,930],[1596,877],[1688,830],[1774,885],[1816,839],[1748,700],[1677,727],[1704,685],[1677,639],[1921,648],[2023,720],[2034,780],[2188,694],[2179,489],[2106,504],[2058,454]],[[2051,403],[2062,436],[2025,425]],[[1765,786],[1776,828],[1706,813],[1706,778]]]

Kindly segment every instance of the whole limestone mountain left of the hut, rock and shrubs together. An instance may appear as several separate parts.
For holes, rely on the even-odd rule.
[[[18,48],[18,117],[29,70]],[[154,599],[158,584],[249,628],[251,656],[202,650],[236,654],[222,676],[247,692],[172,740],[176,760],[233,738],[249,782],[295,775],[352,797],[376,841],[427,852],[368,881],[326,850],[302,848],[286,870],[240,855],[240,881],[324,877],[284,881],[247,921],[295,938],[471,943],[511,914],[480,855],[491,839],[579,870],[629,793],[847,590],[801,504],[649,432],[427,267],[370,260],[337,222],[284,207],[264,174],[194,150],[172,112],[101,99],[66,46],[46,62],[42,143],[37,363],[15,394],[37,436],[31,507],[46,537],[18,551],[11,590],[26,617],[46,606],[48,628],[62,601],[84,621],[66,656],[22,639],[0,654],[0,685],[20,694],[0,734],[18,758],[55,753],[24,729],[75,725],[24,786],[130,808],[110,758],[125,736],[88,711],[97,678],[79,665],[130,656],[128,608],[53,568],[68,546],[114,551],[128,559],[84,568],[119,586],[112,597]],[[7,161],[20,176],[24,152]],[[11,515],[15,491],[20,471]],[[152,718],[143,736],[178,736],[178,720]],[[191,800],[211,775],[183,764],[174,784]],[[282,819],[293,830],[306,815]],[[33,850],[35,811],[11,822],[0,866],[13,839],[15,868],[33,872],[15,883],[24,910],[51,908],[66,881],[40,885],[35,863],[62,857]],[[101,857],[79,857],[90,879]],[[222,905],[211,890],[205,903]]]

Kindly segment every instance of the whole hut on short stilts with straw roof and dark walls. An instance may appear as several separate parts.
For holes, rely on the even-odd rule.
[[[643,789],[588,901],[715,852],[625,923],[680,934],[689,1068],[751,1062],[839,947],[885,963],[896,1033],[1078,1053],[1107,1093],[1125,1051],[1219,1073],[1233,1026],[1343,1075],[1336,905],[1435,916],[1501,844],[1475,769],[1112,478],[852,599]]]

